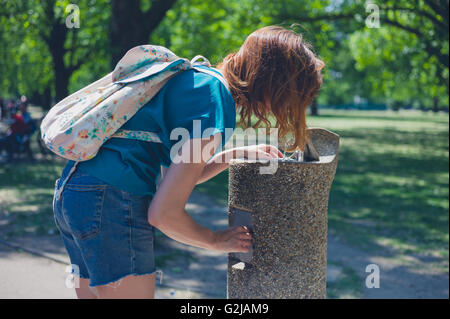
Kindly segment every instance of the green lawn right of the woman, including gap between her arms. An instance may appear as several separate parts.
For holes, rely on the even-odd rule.
[[[364,248],[448,258],[449,117],[323,110],[308,119],[340,135],[330,233]],[[227,203],[226,172],[196,186]]]

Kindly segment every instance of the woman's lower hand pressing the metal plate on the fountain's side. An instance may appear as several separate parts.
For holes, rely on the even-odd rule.
[[[214,232],[214,242],[211,248],[228,253],[246,253],[252,245],[251,239],[252,236],[247,227],[231,227]]]

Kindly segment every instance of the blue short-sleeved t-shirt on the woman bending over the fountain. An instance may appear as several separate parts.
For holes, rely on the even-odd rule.
[[[221,132],[223,148],[229,138],[225,128],[235,128],[236,110],[234,100],[222,82],[212,75],[188,70],[170,79],[121,127],[156,132],[162,143],[111,138],[93,159],[80,162],[78,169],[127,192],[139,196],[154,195],[160,166],[170,165],[170,149],[182,138],[175,136],[178,140],[171,140],[171,131],[181,127],[189,131],[191,138],[198,137],[194,133],[193,120],[200,121],[197,124],[201,124],[202,133],[213,128],[203,137]],[[73,163],[69,161],[67,165]]]

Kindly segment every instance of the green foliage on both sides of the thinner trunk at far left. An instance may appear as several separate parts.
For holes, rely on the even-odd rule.
[[[54,25],[64,25],[69,0],[0,2],[0,94],[2,96],[42,94],[53,88],[54,60],[50,51]],[[70,91],[105,73],[108,66],[108,1],[76,1],[80,28],[67,29],[64,63],[75,72]]]

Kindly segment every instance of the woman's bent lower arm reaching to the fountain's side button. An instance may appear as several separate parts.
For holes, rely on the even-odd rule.
[[[209,143],[211,140],[202,139],[201,150]],[[149,223],[172,239],[188,245],[224,252],[247,252],[251,236],[245,227],[213,232],[196,223],[185,211],[189,195],[206,166],[204,159],[199,163],[193,161],[193,152],[190,151],[195,146],[193,140],[186,144],[179,154],[183,161],[173,161],[151,201],[148,209]],[[211,149],[210,156],[216,148],[217,146]]]

